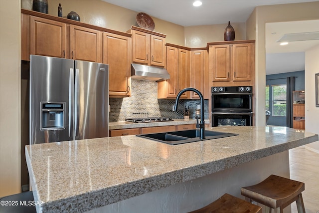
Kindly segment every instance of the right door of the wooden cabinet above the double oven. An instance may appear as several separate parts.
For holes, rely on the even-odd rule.
[[[252,65],[252,44],[233,44],[232,46],[232,73],[233,81],[250,81]]]

